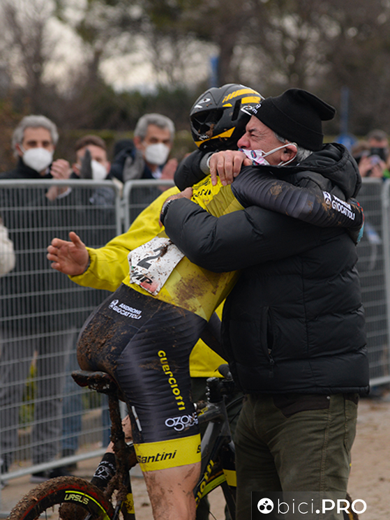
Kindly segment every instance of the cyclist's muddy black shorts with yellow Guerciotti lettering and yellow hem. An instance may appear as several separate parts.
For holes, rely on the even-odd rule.
[[[79,364],[117,381],[144,471],[200,461],[189,357],[206,323],[190,311],[121,285],[80,332]]]

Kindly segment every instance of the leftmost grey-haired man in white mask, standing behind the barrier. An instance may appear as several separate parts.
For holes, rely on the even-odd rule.
[[[52,163],[58,132],[55,124],[41,115],[24,117],[13,133],[13,150],[18,158],[13,170],[0,179],[39,180],[69,176],[68,163]],[[61,214],[54,211],[49,191],[42,188],[2,188],[2,215],[13,239],[17,262],[15,276],[1,278],[0,327],[0,452],[2,473],[8,471],[17,447],[19,408],[24,385],[36,358],[37,399],[31,433],[33,464],[51,461],[57,455],[61,433],[61,394],[64,369],[77,330],[71,319],[70,292],[59,290],[59,278],[47,269],[40,248],[44,229],[60,226]],[[57,194],[58,195],[58,194]],[[37,207],[41,211],[37,211]],[[16,209],[16,211],[15,211]],[[57,476],[56,470],[32,475],[32,482]]]

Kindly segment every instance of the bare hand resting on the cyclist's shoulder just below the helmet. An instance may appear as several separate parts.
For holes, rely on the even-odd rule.
[[[242,166],[250,166],[252,163],[248,157],[238,150],[218,151],[210,158],[209,167],[211,184],[216,186],[219,176],[223,186],[232,184],[234,178],[239,174]]]

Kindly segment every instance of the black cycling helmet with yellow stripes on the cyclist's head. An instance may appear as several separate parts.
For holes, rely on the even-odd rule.
[[[212,87],[190,110],[193,140],[201,150],[234,149],[245,131],[250,115],[241,110],[262,101],[257,91],[238,83]]]

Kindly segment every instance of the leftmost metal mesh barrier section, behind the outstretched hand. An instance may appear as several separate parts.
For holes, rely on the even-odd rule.
[[[57,188],[65,193],[50,200]],[[70,378],[80,327],[108,292],[80,287],[52,269],[46,248],[54,237],[68,240],[70,231],[89,246],[103,246],[121,232],[120,215],[112,181],[0,181],[0,216],[16,258],[0,278],[4,480],[61,466],[64,455],[74,462],[78,447],[88,443],[96,452],[109,439],[105,401]],[[86,456],[91,453],[77,460]]]

